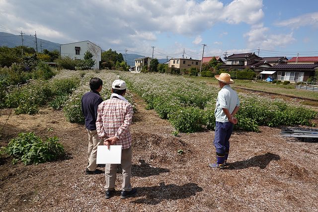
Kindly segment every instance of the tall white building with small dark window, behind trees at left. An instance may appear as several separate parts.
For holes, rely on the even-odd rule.
[[[99,69],[99,62],[101,61],[101,48],[99,46],[88,40],[60,45],[61,56],[69,56],[75,60],[83,60],[84,54],[87,50],[93,54],[92,59],[96,62],[92,68]]]

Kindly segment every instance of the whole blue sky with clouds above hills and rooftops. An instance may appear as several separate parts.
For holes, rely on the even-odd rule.
[[[318,56],[318,0],[0,0],[0,31],[21,30],[157,58]]]

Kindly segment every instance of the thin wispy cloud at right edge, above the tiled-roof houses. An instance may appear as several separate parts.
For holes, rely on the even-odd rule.
[[[301,26],[312,25],[318,26],[318,12],[307,13],[290,19],[277,21],[276,26],[290,26],[292,28],[298,28]]]

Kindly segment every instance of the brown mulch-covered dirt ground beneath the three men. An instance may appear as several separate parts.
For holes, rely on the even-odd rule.
[[[286,140],[280,128],[260,133],[235,131],[230,139],[230,166],[208,167],[215,160],[214,131],[171,134],[173,127],[135,97],[131,126],[131,183],[138,194],[104,198],[103,174],[84,175],[87,135],[83,125],[66,121],[62,111],[42,108],[40,114],[11,115],[0,145],[19,132],[58,136],[65,146],[63,160],[24,166],[0,158],[0,211],[318,211],[318,143]],[[0,127],[10,109],[0,114]],[[182,155],[178,154],[182,150]],[[104,170],[104,168],[101,168]]]

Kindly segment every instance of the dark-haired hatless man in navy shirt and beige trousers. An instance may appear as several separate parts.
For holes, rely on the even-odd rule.
[[[88,133],[88,166],[86,175],[100,174],[101,170],[96,169],[97,146],[103,145],[103,140],[98,137],[96,130],[96,118],[98,105],[103,102],[99,92],[103,86],[103,81],[99,78],[92,78],[89,81],[90,92],[81,98],[81,111],[85,117],[85,127]]]

